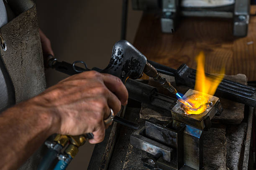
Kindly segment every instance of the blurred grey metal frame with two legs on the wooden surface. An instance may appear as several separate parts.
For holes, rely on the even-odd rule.
[[[184,2],[186,1],[186,2]],[[233,18],[233,35],[245,37],[248,31],[250,14],[250,0],[230,0],[218,2],[218,5],[210,2],[189,0],[132,0],[134,10],[162,10],[161,30],[173,33],[179,15],[186,17],[217,17]],[[197,5],[196,5],[197,4]]]

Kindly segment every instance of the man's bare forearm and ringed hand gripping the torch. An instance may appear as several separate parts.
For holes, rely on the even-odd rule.
[[[40,95],[0,114],[0,167],[17,169],[54,133],[93,133],[104,139],[104,119],[126,105],[128,92],[118,77],[95,71],[68,77]]]

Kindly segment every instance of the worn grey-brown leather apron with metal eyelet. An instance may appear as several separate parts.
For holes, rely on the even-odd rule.
[[[0,58],[12,81],[15,102],[18,103],[43,92],[46,80],[35,4],[31,0],[8,0],[8,4],[17,17],[0,28],[7,47],[5,51],[0,47]],[[20,170],[36,170],[41,148]]]

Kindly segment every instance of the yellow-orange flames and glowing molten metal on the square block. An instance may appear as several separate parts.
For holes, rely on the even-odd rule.
[[[195,90],[202,92],[202,94],[194,94],[190,96],[183,96],[183,100],[178,100],[182,103],[182,110],[187,115],[200,114],[204,112],[208,107],[211,107],[211,101],[207,97],[208,95],[214,95],[218,85],[224,77],[224,69],[219,72],[217,76],[205,75],[205,55],[203,52],[196,57],[197,72]]]

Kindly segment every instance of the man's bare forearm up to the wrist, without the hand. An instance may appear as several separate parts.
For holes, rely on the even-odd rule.
[[[0,113],[0,167],[17,169],[52,131],[53,118],[33,100]]]

